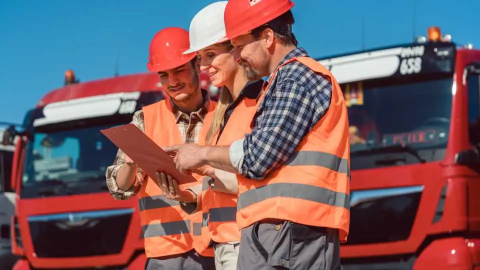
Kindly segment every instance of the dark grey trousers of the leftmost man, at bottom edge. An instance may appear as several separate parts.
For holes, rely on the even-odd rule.
[[[214,270],[215,259],[199,255],[194,249],[165,257],[147,258],[145,270]]]

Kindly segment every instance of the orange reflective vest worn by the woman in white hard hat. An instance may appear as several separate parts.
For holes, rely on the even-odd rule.
[[[229,145],[250,132],[250,121],[256,106],[256,99],[243,98],[235,107],[223,128],[216,145]],[[218,132],[215,138],[218,137]],[[203,213],[202,234],[208,233],[218,243],[239,241],[240,229],[236,224],[237,195],[209,189],[206,179],[202,182],[201,210]],[[205,243],[202,248],[207,248]]]

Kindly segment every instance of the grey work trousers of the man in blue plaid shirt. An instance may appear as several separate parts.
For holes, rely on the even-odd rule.
[[[255,222],[241,230],[237,270],[339,270],[337,229],[285,220]]]

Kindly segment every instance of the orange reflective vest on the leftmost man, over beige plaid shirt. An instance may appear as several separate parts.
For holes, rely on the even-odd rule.
[[[204,140],[206,130],[210,126],[211,115],[216,102],[210,101],[207,114],[203,119],[198,140]],[[176,125],[168,99],[143,107],[145,134],[160,146],[183,143]],[[197,180],[201,176],[193,175]],[[198,184],[182,185],[187,188]],[[201,222],[201,213],[189,215],[185,213],[176,200],[166,199],[160,187],[150,177],[143,182],[140,191],[140,221],[147,257],[162,257],[185,253],[193,248],[193,241],[202,240],[208,235],[193,235],[196,222]],[[209,239],[208,239],[209,240]],[[204,256],[213,256],[213,250],[202,250]]]

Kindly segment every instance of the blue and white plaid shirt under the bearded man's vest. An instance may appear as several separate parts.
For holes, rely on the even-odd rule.
[[[298,56],[309,55],[295,48],[279,65]],[[272,75],[265,82],[273,79],[259,104],[253,130],[230,146],[232,165],[251,179],[263,179],[287,161],[330,105],[330,81],[306,65],[292,61]]]

